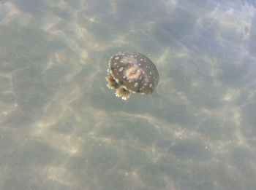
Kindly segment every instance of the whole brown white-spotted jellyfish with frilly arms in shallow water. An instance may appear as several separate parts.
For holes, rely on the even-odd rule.
[[[151,94],[159,81],[154,63],[138,52],[118,52],[109,60],[108,73],[108,87],[124,100],[129,92]]]

